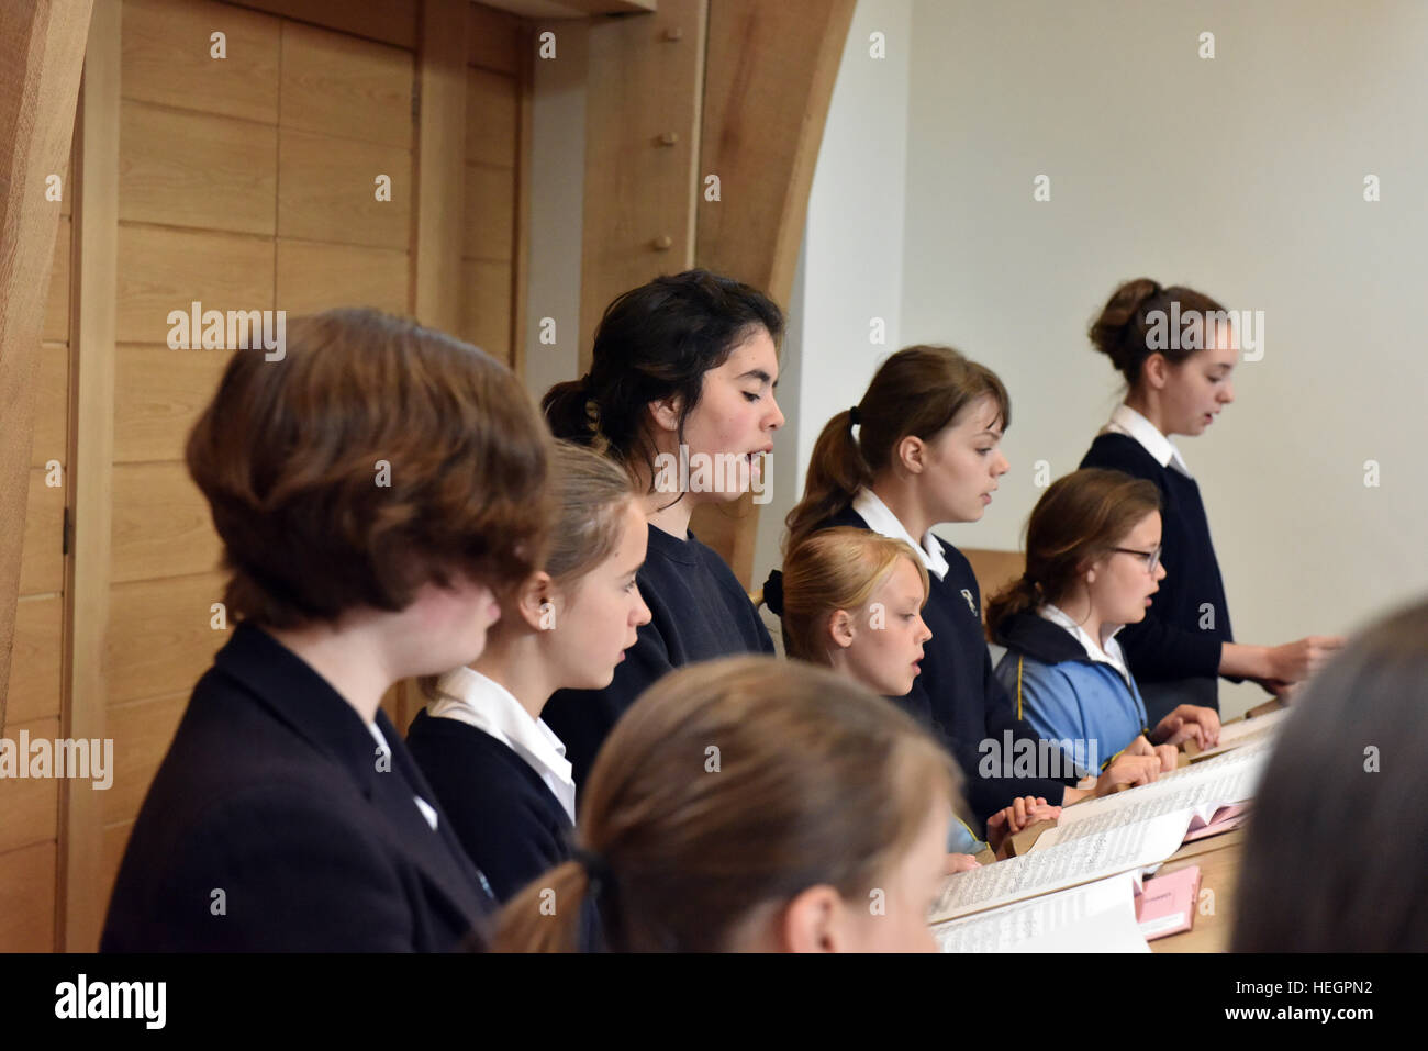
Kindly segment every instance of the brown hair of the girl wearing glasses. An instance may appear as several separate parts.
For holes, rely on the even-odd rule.
[[[1065,598],[1087,563],[1160,508],[1154,481],[1121,471],[1084,467],[1051,483],[1027,520],[1027,571],[987,603],[988,638],[1015,614]]]

